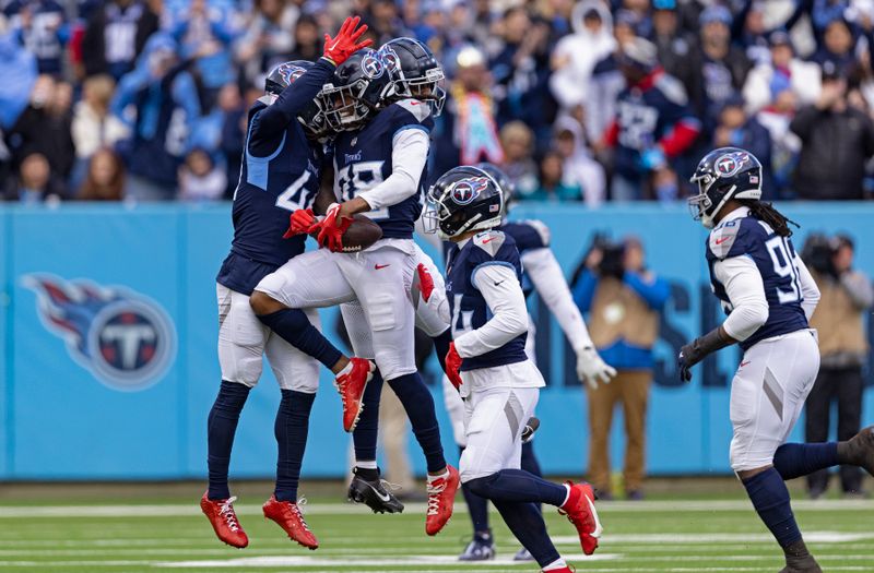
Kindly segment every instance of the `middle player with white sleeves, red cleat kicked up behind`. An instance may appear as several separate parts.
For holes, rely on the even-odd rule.
[[[556,505],[577,528],[586,554],[601,536],[588,484],[553,484],[520,469],[523,422],[536,406],[543,377],[525,355],[528,312],[522,265],[512,237],[497,230],[504,191],[487,171],[456,167],[428,192],[428,217],[449,240],[446,296],[453,342],[446,356],[464,398],[466,447],[461,480],[492,500],[543,571],[571,570],[546,534],[538,503]]]

